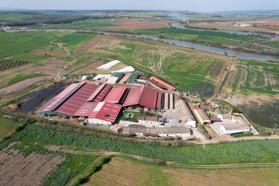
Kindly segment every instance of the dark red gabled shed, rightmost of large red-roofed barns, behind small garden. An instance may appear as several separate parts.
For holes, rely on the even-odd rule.
[[[162,106],[162,91],[140,86],[131,88],[123,103],[123,107],[148,107],[151,109],[161,108]]]

